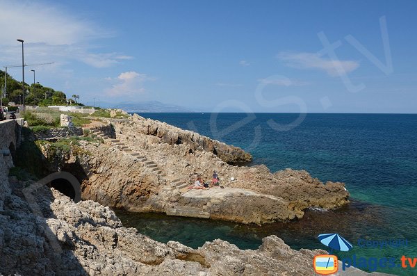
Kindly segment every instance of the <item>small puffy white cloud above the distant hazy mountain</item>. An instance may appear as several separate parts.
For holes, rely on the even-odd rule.
[[[139,74],[137,72],[124,72],[117,76],[117,78],[106,78],[106,80],[114,82],[112,88],[106,90],[106,94],[110,97],[119,96],[135,96],[144,94],[145,88],[143,84],[145,81],[154,81],[154,78],[147,76],[147,74]]]

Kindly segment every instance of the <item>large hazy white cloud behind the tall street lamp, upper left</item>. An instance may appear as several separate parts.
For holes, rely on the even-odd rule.
[[[74,15],[58,4],[31,1],[0,0],[1,31],[0,63],[20,63],[21,47],[17,38],[24,40],[25,63],[54,61],[64,65],[78,60],[92,67],[110,67],[131,59],[121,53],[100,51],[97,39],[111,38],[115,33],[103,29],[82,15]]]

